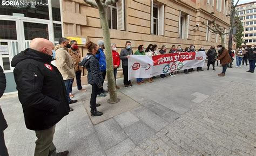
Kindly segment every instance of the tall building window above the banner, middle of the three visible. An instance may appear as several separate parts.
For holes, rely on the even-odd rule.
[[[151,34],[164,36],[164,5],[156,5],[151,1]]]

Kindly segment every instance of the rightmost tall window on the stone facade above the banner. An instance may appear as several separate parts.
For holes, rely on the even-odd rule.
[[[188,28],[190,22],[190,15],[179,12],[179,33],[178,37],[182,39],[188,39]]]

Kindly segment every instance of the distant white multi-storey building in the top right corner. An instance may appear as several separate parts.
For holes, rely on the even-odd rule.
[[[237,15],[244,26],[246,45],[256,44],[256,1],[237,5],[236,9]]]

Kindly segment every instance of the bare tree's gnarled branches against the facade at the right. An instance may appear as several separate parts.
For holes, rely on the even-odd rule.
[[[221,45],[225,47],[225,35],[229,34],[230,31],[225,32],[224,27],[220,26],[219,24],[215,23],[215,19],[213,19],[211,22],[208,22],[208,24],[205,24],[204,22],[201,22],[203,25],[208,27],[208,30],[212,33],[218,33],[221,38]]]

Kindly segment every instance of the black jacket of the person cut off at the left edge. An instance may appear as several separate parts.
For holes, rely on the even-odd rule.
[[[0,97],[3,96],[5,87],[6,87],[6,79],[4,75],[4,70],[0,66]],[[7,127],[8,126],[7,126],[6,120],[4,119],[4,115],[0,107],[0,131],[5,130]]]

